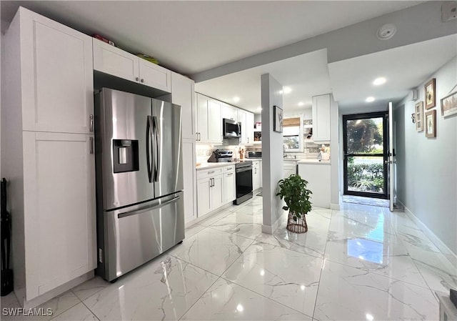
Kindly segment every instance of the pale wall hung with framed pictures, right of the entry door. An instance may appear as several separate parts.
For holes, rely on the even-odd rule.
[[[441,98],[451,89],[456,91],[457,58],[426,81],[431,78],[436,78],[436,138],[416,132],[411,122],[416,102],[403,101],[394,112],[397,196],[406,210],[457,254],[457,114],[441,116]],[[417,89],[419,100],[424,101],[423,84]]]

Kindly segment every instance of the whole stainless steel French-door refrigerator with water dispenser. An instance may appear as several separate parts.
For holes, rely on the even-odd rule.
[[[184,239],[181,107],[106,88],[95,102],[96,273],[114,281]]]

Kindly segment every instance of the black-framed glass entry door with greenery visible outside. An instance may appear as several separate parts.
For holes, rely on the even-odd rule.
[[[343,116],[344,194],[388,198],[385,112]]]

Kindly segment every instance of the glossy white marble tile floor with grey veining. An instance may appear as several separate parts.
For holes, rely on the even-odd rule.
[[[95,277],[40,306],[54,315],[1,320],[438,320],[434,292],[457,288],[456,268],[403,213],[314,208],[305,234],[286,218],[263,234],[253,197],[116,283]]]

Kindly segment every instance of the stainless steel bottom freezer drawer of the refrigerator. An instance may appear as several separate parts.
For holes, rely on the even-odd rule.
[[[183,192],[105,212],[104,278],[114,280],[184,239]]]

